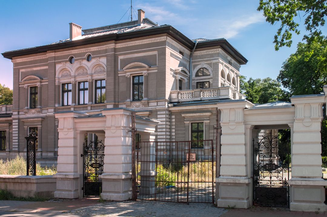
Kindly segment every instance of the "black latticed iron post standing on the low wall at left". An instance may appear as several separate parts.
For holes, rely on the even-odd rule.
[[[36,140],[35,132],[31,131],[25,137],[26,139],[26,176],[36,176]]]

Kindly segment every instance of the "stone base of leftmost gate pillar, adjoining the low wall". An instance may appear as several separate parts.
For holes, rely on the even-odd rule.
[[[54,178],[57,178],[57,191],[54,196],[58,198],[81,198],[79,193],[79,174],[55,174]]]

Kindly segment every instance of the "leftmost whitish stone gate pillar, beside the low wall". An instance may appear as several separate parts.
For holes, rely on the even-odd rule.
[[[82,152],[84,133],[76,131],[74,118],[86,116],[79,112],[58,112],[55,113],[59,120],[58,132],[58,166],[57,191],[55,197],[59,198],[78,198],[82,197],[83,180],[83,160],[80,154]]]

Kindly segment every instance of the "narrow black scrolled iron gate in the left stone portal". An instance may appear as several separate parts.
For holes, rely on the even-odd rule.
[[[84,196],[100,196],[102,180],[99,175],[103,173],[104,145],[102,141],[84,143]]]

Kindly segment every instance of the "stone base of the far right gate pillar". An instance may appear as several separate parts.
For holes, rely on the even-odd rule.
[[[291,178],[291,211],[324,212],[327,210],[325,188],[327,180],[322,178]]]

